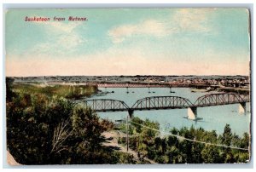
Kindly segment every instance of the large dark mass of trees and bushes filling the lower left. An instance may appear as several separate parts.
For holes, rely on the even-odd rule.
[[[7,83],[7,146],[18,163],[135,163],[132,155],[102,146],[101,134],[113,123],[90,108]]]

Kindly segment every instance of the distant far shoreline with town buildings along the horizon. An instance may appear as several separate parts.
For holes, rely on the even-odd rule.
[[[43,76],[43,77],[6,77],[14,83],[34,83],[42,85],[96,85],[98,88],[192,88],[192,92],[223,91],[248,94],[248,76]]]

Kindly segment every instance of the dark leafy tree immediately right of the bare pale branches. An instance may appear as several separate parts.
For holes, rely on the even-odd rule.
[[[99,118],[90,108],[76,106],[71,121],[73,140],[76,140],[72,151],[80,154],[79,163],[95,163],[103,141],[101,134],[104,131]]]

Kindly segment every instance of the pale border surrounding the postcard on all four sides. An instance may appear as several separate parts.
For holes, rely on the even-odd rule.
[[[86,4],[80,4],[80,3],[84,3],[83,0],[73,0],[73,1],[64,1],[62,0],[60,3],[60,0],[37,0],[37,2],[32,1],[32,0],[22,0],[22,3],[20,3],[21,0],[3,0],[3,8],[1,9],[1,19],[3,20],[3,9],[42,9],[42,8],[48,8],[48,9],[59,9],[59,8],[154,8],[154,7],[247,7],[248,5],[250,5],[250,8],[252,9],[253,12],[253,1],[252,0],[243,0],[243,1],[228,1],[228,0],[224,0],[224,1],[205,1],[205,0],[197,0],[194,1],[194,3],[190,3],[191,1],[184,1],[184,0],[180,0],[180,1],[172,1],[173,3],[169,3],[168,0],[160,0],[157,2],[148,0],[147,3],[143,3],[143,0],[131,0],[131,1],[127,1],[127,0],[123,0],[122,3],[119,3],[119,1],[115,0],[110,0],[108,2],[104,1],[104,0],[98,0],[97,2],[95,1],[87,1],[85,2]],[[29,4],[25,4],[25,3],[29,3]],[[70,4],[72,3],[72,4]],[[117,4],[119,3],[119,4]],[[129,3],[129,4],[128,4]],[[164,3],[164,4],[163,4]],[[189,3],[189,4],[188,4]],[[203,3],[203,4],[198,4],[198,3]],[[236,4],[235,4],[236,3]],[[239,4],[237,4],[239,3]],[[245,4],[245,3],[251,3],[251,4]],[[252,13],[253,14],[253,13]],[[252,15],[252,19],[253,21],[255,21],[255,17],[253,17],[254,14]],[[254,22],[253,22],[254,23]],[[1,26],[3,28],[3,22],[1,22]],[[4,30],[4,29],[3,29]],[[253,31],[254,28],[252,29],[252,43],[253,43]],[[1,33],[1,37],[3,38],[4,35],[4,31]],[[2,39],[3,40],[3,39]],[[4,41],[4,40],[3,40]],[[3,46],[4,46],[4,42],[3,42]],[[254,48],[254,45],[253,47]],[[4,84],[4,52],[3,52],[3,47],[1,48],[1,52],[3,54],[3,60],[1,60],[1,82],[3,84],[1,84],[1,88],[0,90],[3,90],[2,93],[5,92],[5,84]],[[252,49],[253,50],[253,49]],[[253,54],[252,54],[253,55]],[[3,63],[3,64],[2,64]],[[254,66],[254,61],[253,61],[253,57],[252,57],[252,65]],[[253,67],[252,67],[252,71],[253,71]],[[254,71],[252,73],[254,76]],[[252,82],[253,82],[253,77],[252,77]],[[253,84],[253,90],[254,88],[254,84]],[[3,153],[0,153],[0,162],[2,165],[3,170],[13,170],[13,169],[6,169],[6,168],[13,168],[12,166],[9,166],[6,162],[6,152],[4,150],[6,150],[6,143],[5,143],[5,98],[4,98],[4,94],[1,94],[3,96],[3,99],[0,99],[0,105],[1,105],[1,111],[3,112],[3,120],[1,121],[1,126],[3,126],[2,128],[0,127],[0,133],[2,133],[3,137],[0,136],[0,149],[3,150]],[[253,102],[253,106],[254,106],[254,102]],[[253,112],[252,112],[253,113]],[[254,118],[252,119],[254,121]],[[252,133],[254,133],[254,129],[252,130]],[[2,140],[3,139],[3,140]],[[1,144],[3,143],[3,144]],[[253,147],[255,146],[254,141],[253,141]],[[4,153],[5,152],[5,153]],[[254,153],[253,153],[253,157],[254,157]],[[3,164],[2,164],[3,163]],[[253,164],[255,164],[255,160],[254,158],[252,159],[252,164],[247,165],[245,164],[181,164],[181,165],[176,165],[176,164],[168,164],[168,165],[147,165],[147,166],[142,166],[142,165],[71,165],[71,166],[60,166],[60,165],[55,165],[55,166],[51,166],[51,165],[46,165],[46,166],[37,166],[37,165],[33,165],[33,166],[20,166],[18,167],[19,170],[23,170],[23,169],[37,169],[37,170],[44,170],[44,169],[61,169],[61,170],[68,170],[68,169],[95,169],[95,168],[99,168],[99,169],[104,169],[104,170],[119,170],[122,169],[125,171],[129,170],[129,168],[137,168],[137,170],[141,170],[142,168],[147,168],[147,170],[154,170],[155,168],[160,168],[160,169],[176,169],[176,170],[182,170],[182,169],[192,169],[192,170],[205,170],[208,168],[208,170],[216,170],[221,168],[224,169],[224,171],[226,171],[226,168],[236,168],[236,170],[241,171],[241,168],[253,168]],[[65,168],[65,169],[62,169]],[[109,169],[110,168],[110,169]],[[154,168],[154,169],[151,169]],[[212,169],[213,168],[213,169]],[[234,169],[232,169],[233,171]],[[249,169],[252,170],[252,169]]]

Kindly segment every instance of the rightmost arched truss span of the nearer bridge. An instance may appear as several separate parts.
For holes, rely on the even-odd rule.
[[[234,93],[218,93],[203,95],[195,100],[194,106],[219,106],[249,101],[248,96],[242,96]]]

